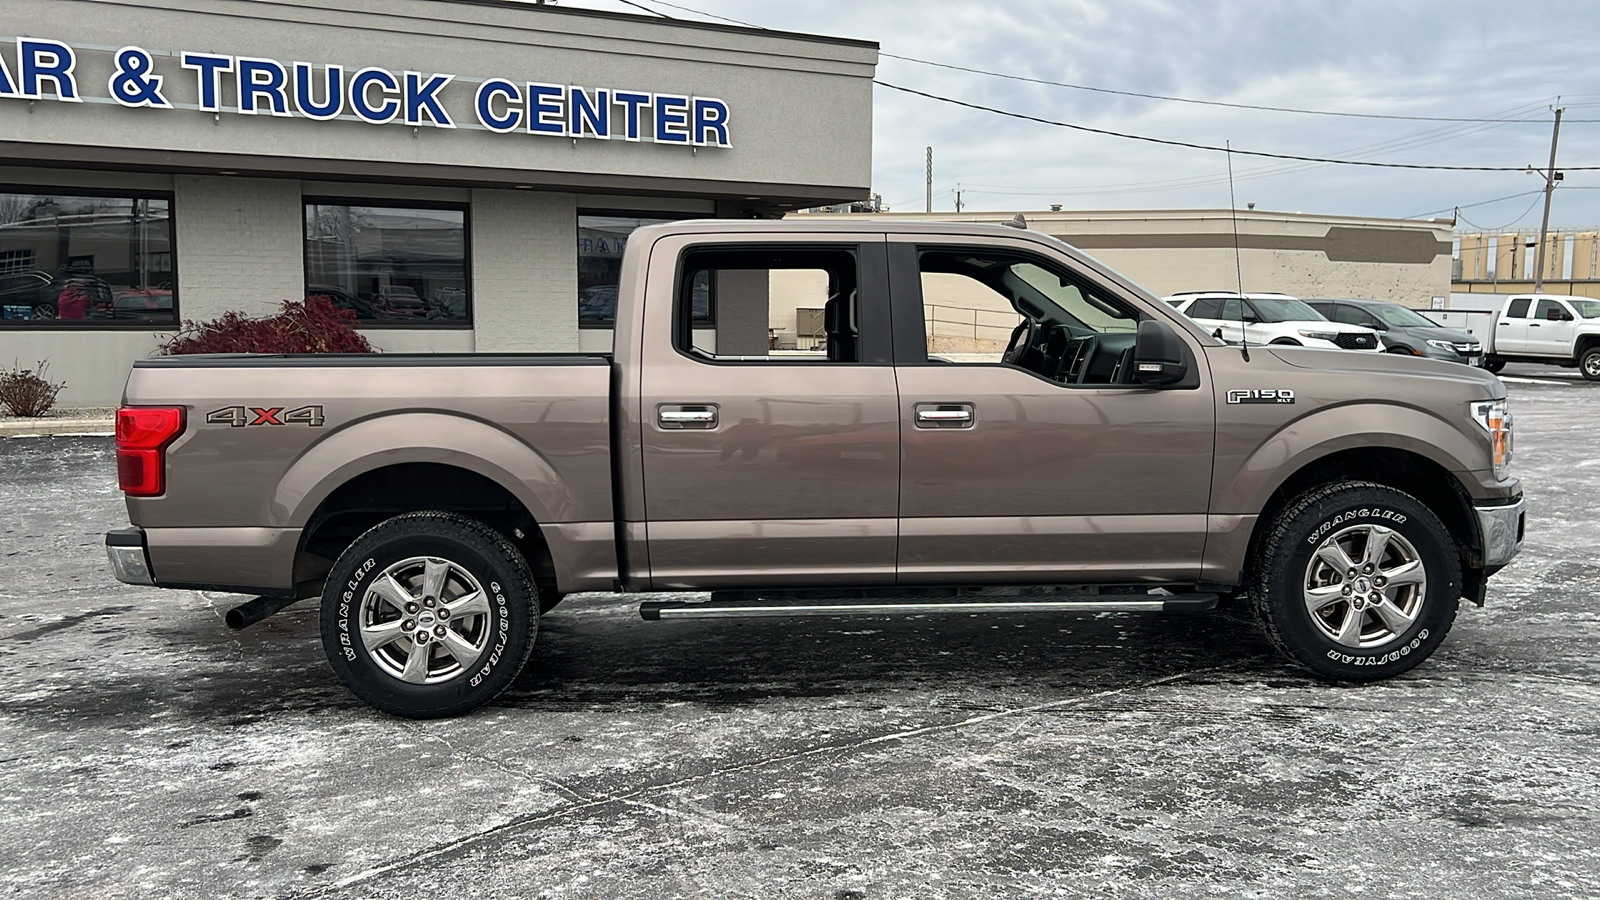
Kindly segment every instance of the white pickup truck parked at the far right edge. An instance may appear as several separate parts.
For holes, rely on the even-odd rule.
[[[1506,299],[1494,327],[1483,335],[1483,367],[1541,362],[1578,367],[1600,381],[1600,299],[1530,293]]]

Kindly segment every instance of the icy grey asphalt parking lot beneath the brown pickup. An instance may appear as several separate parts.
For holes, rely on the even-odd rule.
[[[109,439],[5,440],[0,895],[1600,897],[1600,384],[1506,375],[1526,549],[1365,687],[1226,615],[590,594],[496,705],[405,722],[309,602],[234,634],[112,581]]]

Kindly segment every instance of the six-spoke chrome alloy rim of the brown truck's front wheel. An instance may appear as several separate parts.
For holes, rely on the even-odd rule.
[[[1422,612],[1427,570],[1411,541],[1382,525],[1352,525],[1317,546],[1306,565],[1306,612],[1346,647],[1381,647]]]

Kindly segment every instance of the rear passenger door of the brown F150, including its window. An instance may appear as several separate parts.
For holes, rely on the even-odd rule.
[[[893,583],[883,235],[710,240],[650,255],[637,375],[651,585]]]

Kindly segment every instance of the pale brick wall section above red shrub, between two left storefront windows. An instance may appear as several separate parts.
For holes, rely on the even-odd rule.
[[[306,295],[299,181],[178,175],[173,224],[184,319],[266,315]]]

